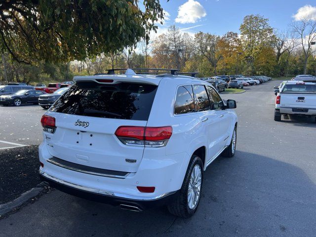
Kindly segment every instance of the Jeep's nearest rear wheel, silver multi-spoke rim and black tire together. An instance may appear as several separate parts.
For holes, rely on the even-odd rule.
[[[193,216],[201,196],[203,183],[203,163],[193,155],[184,177],[179,195],[168,205],[172,215],[188,218]]]

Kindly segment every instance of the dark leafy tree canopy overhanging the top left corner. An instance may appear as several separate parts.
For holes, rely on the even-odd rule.
[[[149,40],[159,0],[1,0],[0,51],[17,62],[83,60]]]

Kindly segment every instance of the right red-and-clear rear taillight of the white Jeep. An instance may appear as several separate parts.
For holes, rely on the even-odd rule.
[[[115,132],[126,145],[165,146],[172,135],[172,127],[120,126]]]

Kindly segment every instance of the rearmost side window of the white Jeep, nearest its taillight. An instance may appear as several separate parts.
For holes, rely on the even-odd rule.
[[[192,85],[180,86],[177,90],[174,114],[195,112]]]

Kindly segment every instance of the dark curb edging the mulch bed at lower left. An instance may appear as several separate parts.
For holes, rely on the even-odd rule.
[[[40,183],[35,188],[33,188],[29,191],[26,191],[20,197],[17,197],[13,201],[1,204],[0,205],[0,215],[3,215],[7,212],[12,211],[14,208],[21,206],[24,202],[28,201],[32,197],[39,195],[40,192],[44,189],[42,186],[43,186],[43,183]]]

